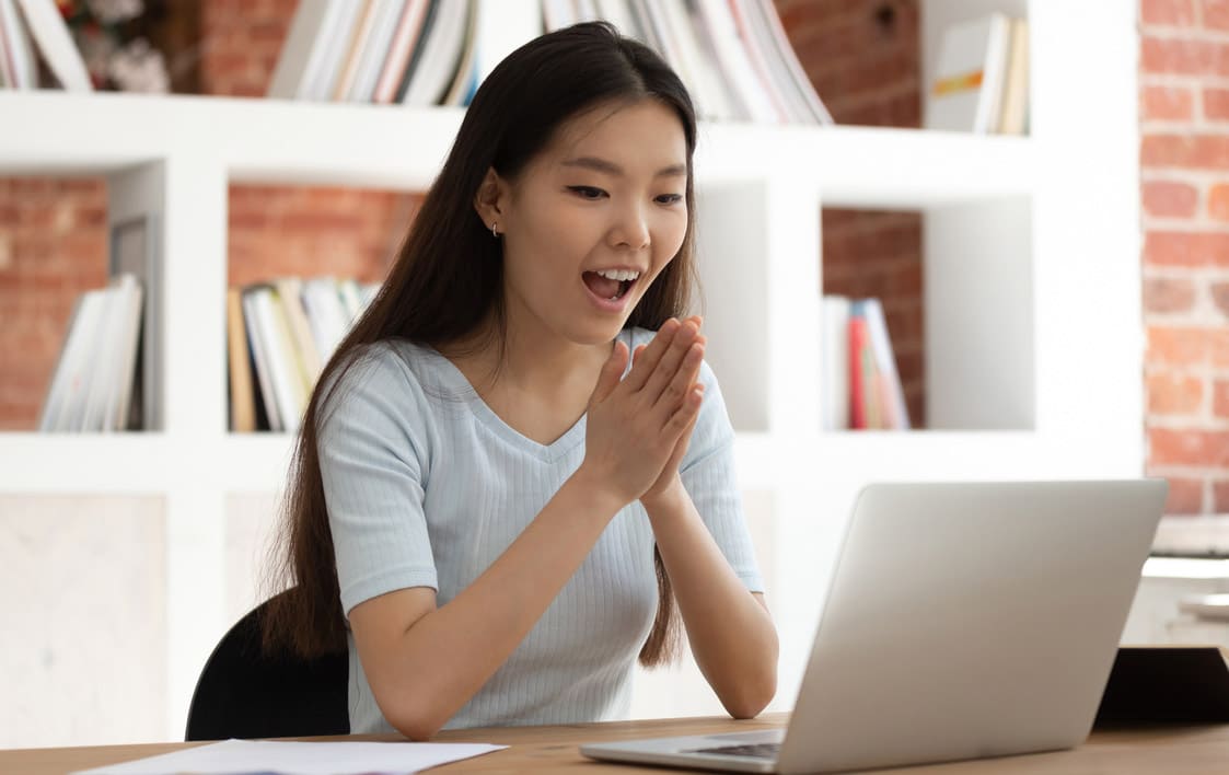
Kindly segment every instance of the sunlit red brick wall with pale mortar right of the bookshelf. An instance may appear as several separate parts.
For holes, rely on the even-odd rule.
[[[1229,512],[1229,1],[1141,2],[1147,469]]]

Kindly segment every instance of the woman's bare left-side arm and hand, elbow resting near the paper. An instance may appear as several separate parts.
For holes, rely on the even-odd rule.
[[[419,587],[354,606],[359,658],[393,727],[412,739],[439,731],[541,619],[611,518],[660,477],[701,406],[694,336],[667,322],[622,381],[628,352],[616,344],[589,403],[584,463],[456,598],[436,608],[435,592]]]

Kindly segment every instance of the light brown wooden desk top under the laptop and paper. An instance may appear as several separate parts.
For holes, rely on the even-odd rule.
[[[430,770],[434,773],[662,773],[671,770],[634,768],[590,761],[576,750],[581,743],[621,741],[638,737],[741,732],[779,727],[785,715],[769,713],[755,721],[729,718],[666,718],[661,721],[623,721],[571,725],[562,727],[516,727],[500,729],[463,729],[442,732],[440,742],[482,742],[511,745],[492,754],[457,761]],[[321,739],[401,739],[393,736],[355,736]],[[116,764],[143,757],[168,753],[197,743],[156,743],[149,745],[103,745],[93,748],[31,748],[0,750],[0,773],[22,775],[64,775],[76,770]],[[1047,774],[1075,775],[1115,773],[1115,775],[1207,775],[1229,768],[1229,725],[1149,727],[1095,732],[1074,750],[956,761],[905,770],[906,775]],[[677,771],[677,770],[676,770]],[[887,771],[887,770],[876,770]]]

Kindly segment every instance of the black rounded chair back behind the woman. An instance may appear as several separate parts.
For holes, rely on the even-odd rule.
[[[349,656],[343,651],[304,661],[264,654],[261,619],[268,604],[240,619],[209,654],[192,694],[184,739],[350,732]]]

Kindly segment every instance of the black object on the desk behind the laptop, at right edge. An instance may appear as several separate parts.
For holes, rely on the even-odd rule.
[[[1094,726],[1229,721],[1229,664],[1217,646],[1123,646]]]

